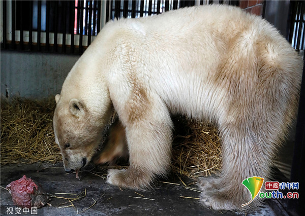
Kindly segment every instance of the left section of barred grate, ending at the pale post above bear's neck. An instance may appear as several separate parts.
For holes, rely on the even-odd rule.
[[[2,49],[81,54],[101,29],[101,1],[2,2]]]

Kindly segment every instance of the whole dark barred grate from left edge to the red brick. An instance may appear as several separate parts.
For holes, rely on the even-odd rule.
[[[82,54],[109,20],[239,1],[1,1],[1,49]]]

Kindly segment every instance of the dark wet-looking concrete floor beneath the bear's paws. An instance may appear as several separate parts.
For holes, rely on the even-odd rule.
[[[39,172],[37,172],[39,170]],[[168,179],[161,179],[156,183],[153,191],[141,191],[136,194],[134,190],[119,189],[118,187],[105,183],[106,171],[87,166],[80,173],[81,180],[75,178],[74,174],[66,174],[62,163],[49,164],[19,164],[5,165],[1,167],[1,186],[6,187],[12,181],[19,179],[22,175],[31,177],[38,182],[47,193],[62,196],[76,197],[75,195],[60,195],[55,193],[80,194],[86,189],[86,196],[74,201],[75,207],[64,207],[71,205],[67,200],[52,198],[52,206],[44,206],[38,209],[38,215],[76,215],[86,208],[92,206],[94,200],[98,200],[94,206],[79,213],[80,215],[236,215],[234,212],[212,211],[200,207],[198,199],[182,198],[199,197],[199,192],[188,190],[181,184],[177,176],[171,175]],[[187,185],[194,183],[193,179],[182,179]],[[172,185],[163,181],[175,183]],[[196,185],[189,187],[196,188]],[[140,199],[140,198],[148,199]],[[14,206],[8,191],[1,188],[0,214],[6,215],[7,208]],[[22,213],[24,214],[24,213]],[[22,215],[21,214],[21,215]],[[30,214],[30,213],[27,213]],[[245,214],[238,214],[245,215]],[[276,215],[268,204],[257,212],[247,215]]]

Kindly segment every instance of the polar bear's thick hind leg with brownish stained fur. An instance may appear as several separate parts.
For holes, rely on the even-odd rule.
[[[218,122],[223,165],[219,176],[203,177],[198,182],[202,205],[216,210],[245,211],[261,204],[262,199],[255,198],[249,205],[241,206],[251,200],[242,181],[252,176],[268,180],[272,159],[297,107],[296,71],[301,66],[297,61],[289,62],[297,59],[294,51],[287,51],[290,57],[285,57],[268,46],[251,49],[248,45],[248,50],[243,49],[245,55],[239,52],[237,56],[233,48],[228,56],[234,56],[238,63],[224,63],[217,78],[222,86],[227,86],[226,97],[230,98],[226,114]]]

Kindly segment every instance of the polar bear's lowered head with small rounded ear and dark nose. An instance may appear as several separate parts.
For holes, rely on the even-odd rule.
[[[55,96],[55,142],[60,147],[67,172],[81,169],[92,159],[110,117],[108,101],[100,107],[101,112],[94,112],[86,99]]]

